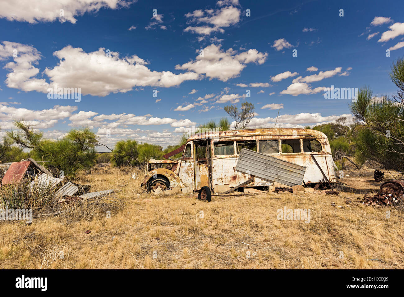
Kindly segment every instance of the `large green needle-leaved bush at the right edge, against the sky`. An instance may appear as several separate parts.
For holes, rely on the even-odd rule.
[[[404,172],[404,59],[396,60],[389,73],[397,86],[392,98],[373,96],[365,87],[350,105],[362,130],[356,140],[363,158],[377,161],[387,169]]]

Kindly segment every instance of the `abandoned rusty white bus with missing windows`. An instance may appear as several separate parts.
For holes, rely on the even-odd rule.
[[[299,165],[304,170],[295,184],[313,186],[336,182],[335,163],[324,133],[310,129],[268,128],[194,134],[182,147],[165,155],[167,160],[150,160],[142,186],[149,191],[175,187],[183,192],[198,191],[198,198],[208,201],[212,192],[220,192],[221,185],[233,188],[242,184],[239,190],[288,186],[288,182],[282,184],[274,179],[260,178],[253,172],[237,170],[243,148],[276,158],[272,160]],[[181,151],[181,159],[168,159]]]

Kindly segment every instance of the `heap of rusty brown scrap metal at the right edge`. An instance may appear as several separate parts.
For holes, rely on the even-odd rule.
[[[359,198],[358,198],[359,199]],[[391,180],[380,186],[379,192],[374,195],[366,194],[362,203],[364,205],[393,206],[404,200],[404,180]]]

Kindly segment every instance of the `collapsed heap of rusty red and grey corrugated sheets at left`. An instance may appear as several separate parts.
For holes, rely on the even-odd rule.
[[[94,197],[105,196],[117,189],[104,190],[99,192],[89,192],[90,185],[80,185],[73,182],[66,182],[64,176],[55,178],[48,169],[39,165],[34,159],[23,159],[21,162],[0,163],[0,185],[13,184],[21,181],[23,178],[29,178],[32,186],[46,185],[56,189],[55,198],[59,198],[59,202],[82,200]]]

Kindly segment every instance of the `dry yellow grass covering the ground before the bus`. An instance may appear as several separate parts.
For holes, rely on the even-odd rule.
[[[101,208],[34,219],[29,226],[0,222],[0,268],[404,268],[403,213],[361,205],[356,197],[363,195],[353,190],[331,197],[213,197],[206,203],[188,195],[142,193],[144,174],[136,171],[137,180],[115,168],[76,180],[94,191],[121,189],[115,196],[125,206],[112,208],[111,218]],[[344,182],[357,186],[366,180]],[[353,203],[345,205],[348,198]],[[310,209],[310,222],[277,220],[285,206]]]

